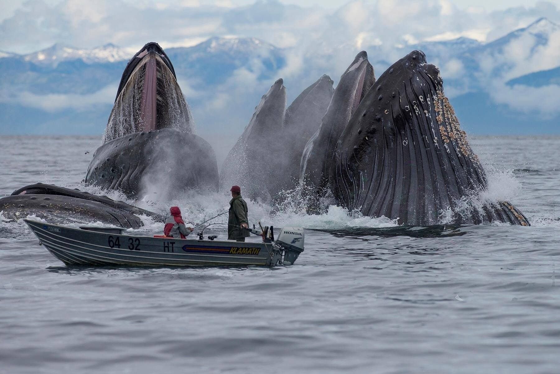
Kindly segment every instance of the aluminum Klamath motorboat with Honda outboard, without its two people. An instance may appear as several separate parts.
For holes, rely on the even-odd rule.
[[[272,240],[265,236],[265,242],[253,243],[146,237],[123,234],[122,228],[24,221],[40,244],[66,265],[276,266],[293,264],[304,250],[304,231],[293,227],[281,229],[276,241],[272,235]]]

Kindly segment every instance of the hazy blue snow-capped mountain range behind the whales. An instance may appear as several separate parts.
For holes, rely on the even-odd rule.
[[[360,49],[367,50],[378,77],[410,50],[423,50],[428,62],[440,67],[446,94],[467,130],[519,133],[528,122],[560,121],[557,105],[540,103],[546,102],[541,95],[555,90],[560,96],[560,26],[547,19],[489,43],[458,38],[386,49],[371,39],[359,49],[345,44],[320,50],[320,45],[301,54],[256,38],[210,38],[166,53],[199,129],[242,129],[276,79],[284,78],[288,100],[293,99],[324,73],[336,82]],[[25,56],[0,53],[0,133],[69,128],[101,133],[120,75],[135,52],[113,44],[90,50],[55,44]]]

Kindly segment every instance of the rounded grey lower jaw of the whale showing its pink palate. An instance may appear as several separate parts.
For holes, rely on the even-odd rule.
[[[217,191],[218,168],[212,147],[203,138],[164,128],[136,132],[100,146],[85,182],[103,190],[120,190],[130,198],[157,193],[180,196],[188,190]]]

